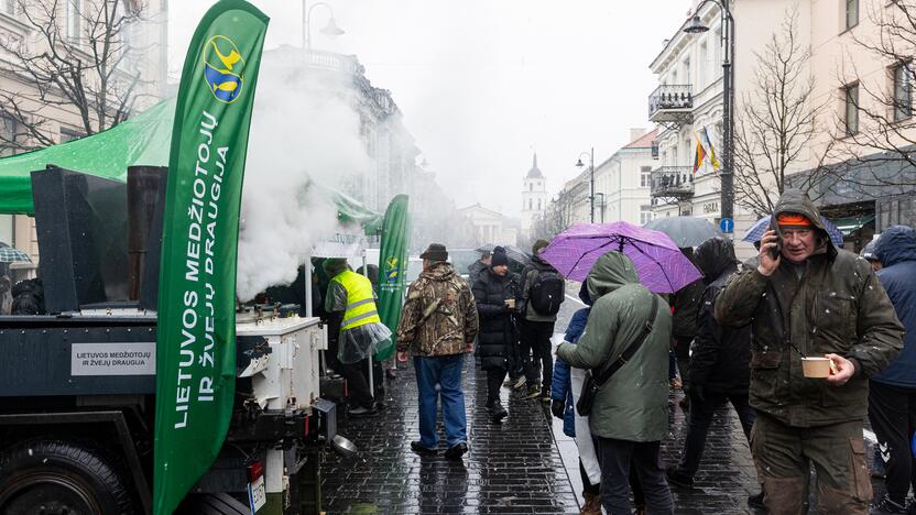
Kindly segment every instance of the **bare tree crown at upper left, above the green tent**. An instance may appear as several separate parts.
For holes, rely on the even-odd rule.
[[[76,114],[84,135],[130,116],[145,80],[131,69],[140,54],[129,33],[144,21],[145,6],[73,1],[18,0],[20,21],[33,36],[30,44],[0,39],[0,52],[9,56],[7,72],[21,84],[17,91],[0,94],[0,113],[15,127],[15,134],[0,134],[0,151],[21,152],[57,142],[58,135],[46,123],[48,107]]]

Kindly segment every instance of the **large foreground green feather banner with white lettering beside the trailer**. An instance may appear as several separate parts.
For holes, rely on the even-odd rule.
[[[204,15],[185,57],[168,158],[156,340],[153,512],[171,514],[222,447],[236,387],[236,261],[268,17]]]

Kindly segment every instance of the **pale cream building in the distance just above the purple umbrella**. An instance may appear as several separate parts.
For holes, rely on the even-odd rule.
[[[652,220],[652,173],[657,131],[631,129],[630,143],[595,167],[595,221],[623,220],[642,226]]]

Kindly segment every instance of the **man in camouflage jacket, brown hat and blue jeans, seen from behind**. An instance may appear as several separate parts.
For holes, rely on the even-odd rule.
[[[419,391],[421,439],[412,441],[411,449],[421,454],[436,452],[437,397],[441,395],[445,456],[460,460],[468,450],[461,366],[464,353],[473,350],[477,305],[467,281],[446,262],[445,245],[433,243],[419,256],[423,273],[407,289],[397,326],[397,358],[404,361],[407,352],[413,354]]]

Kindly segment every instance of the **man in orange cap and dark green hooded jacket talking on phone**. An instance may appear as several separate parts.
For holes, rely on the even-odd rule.
[[[903,326],[869,263],[836,249],[807,195],[787,189],[756,269],[729,281],[715,314],[723,326],[752,328],[751,452],[770,512],[803,513],[814,464],[818,513],[868,514],[868,380],[903,347]],[[835,371],[806,377],[806,357],[826,357]]]

